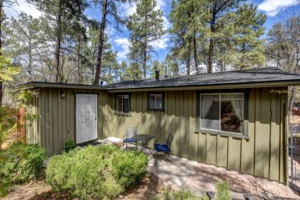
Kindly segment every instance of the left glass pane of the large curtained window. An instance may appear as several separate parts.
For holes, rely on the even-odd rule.
[[[200,109],[201,128],[219,131],[219,94],[202,94]]]

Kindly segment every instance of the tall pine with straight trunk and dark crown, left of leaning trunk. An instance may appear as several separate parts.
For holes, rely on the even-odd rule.
[[[49,34],[53,35],[52,39],[55,42],[55,81],[64,81],[64,66],[61,61],[61,54],[64,51],[69,53],[69,49],[64,46],[68,44],[66,41],[68,36],[74,36],[74,32],[84,32],[79,21],[85,19],[84,10],[87,6],[86,1],[29,0],[29,2],[36,5],[36,7],[45,14],[44,19],[47,20],[48,23],[44,24],[46,25],[44,29],[50,31]]]

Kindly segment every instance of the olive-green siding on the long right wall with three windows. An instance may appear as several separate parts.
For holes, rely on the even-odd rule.
[[[171,132],[172,154],[285,183],[287,94],[271,90],[249,91],[248,140],[196,132],[199,94],[189,90],[165,91],[164,112],[147,111],[146,91],[131,92],[131,116],[115,114],[114,94],[108,94],[104,99],[108,107],[101,112],[109,122],[104,121],[101,136],[121,138],[126,127],[132,126],[155,139],[166,139]],[[149,147],[153,148],[155,139]]]

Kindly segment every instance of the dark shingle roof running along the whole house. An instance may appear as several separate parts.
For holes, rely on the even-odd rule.
[[[134,83],[135,82],[135,83]],[[184,87],[184,86],[197,86],[197,87],[211,87],[211,86],[241,86],[241,84],[262,84],[268,83],[268,86],[286,86],[286,85],[299,85],[300,75],[291,74],[277,68],[261,68],[261,69],[247,69],[240,71],[226,71],[213,74],[200,74],[191,76],[176,76],[170,78],[137,80],[137,81],[122,81],[116,84],[109,84],[106,86],[92,86],[82,84],[61,84],[50,82],[31,81],[25,84],[20,84],[14,89],[31,89],[38,87],[49,88],[73,88],[73,89],[106,89],[111,91],[119,91],[126,89],[151,89],[151,88],[171,88],[171,87]],[[251,86],[251,85],[250,85]]]

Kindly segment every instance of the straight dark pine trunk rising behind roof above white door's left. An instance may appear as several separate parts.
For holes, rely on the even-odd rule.
[[[59,1],[59,13],[57,14],[57,36],[56,36],[56,50],[55,50],[55,59],[56,59],[56,76],[55,81],[61,81],[61,66],[60,66],[60,51],[61,51],[61,1]]]

